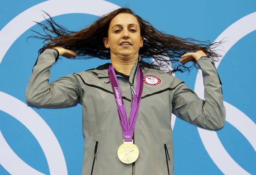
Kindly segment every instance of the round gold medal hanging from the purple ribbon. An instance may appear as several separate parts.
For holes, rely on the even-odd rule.
[[[133,141],[124,141],[117,150],[117,156],[124,164],[132,164],[139,157],[139,149]]]

